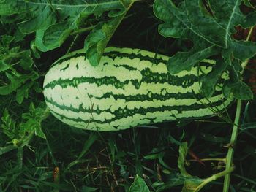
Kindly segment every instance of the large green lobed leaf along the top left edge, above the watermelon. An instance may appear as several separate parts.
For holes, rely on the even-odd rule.
[[[125,11],[119,0],[75,1],[0,1],[0,15],[20,15],[15,22],[23,34],[36,33],[35,45],[41,51],[59,47],[72,31],[80,27],[81,18],[97,17],[108,12],[110,17]]]

